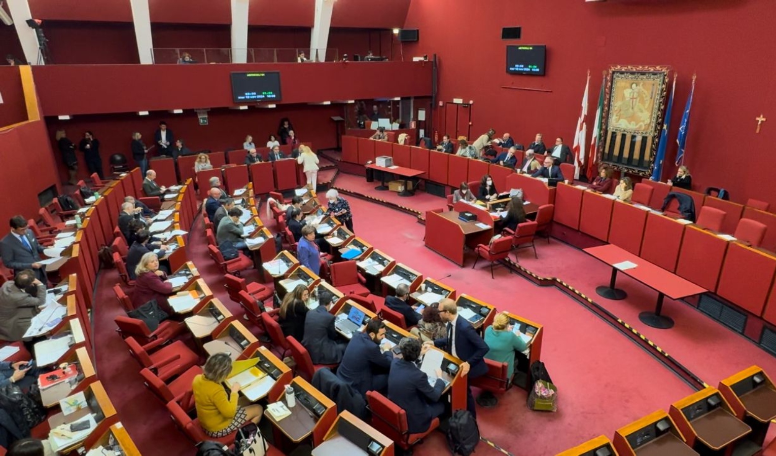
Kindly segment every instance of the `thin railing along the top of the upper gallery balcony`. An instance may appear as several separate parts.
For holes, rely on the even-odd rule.
[[[309,49],[269,47],[251,49],[167,47],[154,48],[154,64],[276,64],[307,61],[334,62],[339,60],[336,48]],[[302,54],[303,53],[303,54]]]

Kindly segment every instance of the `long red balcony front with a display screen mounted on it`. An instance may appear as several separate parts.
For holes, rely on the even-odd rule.
[[[231,106],[231,71],[281,71],[284,104],[431,93],[431,66],[422,62],[47,65],[33,71],[44,116]]]

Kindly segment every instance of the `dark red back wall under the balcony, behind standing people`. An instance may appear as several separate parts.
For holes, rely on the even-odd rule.
[[[169,112],[151,112],[149,116],[138,116],[136,113],[99,114],[74,116],[71,120],[58,120],[48,117],[47,138],[54,144],[54,133],[64,129],[68,137],[76,144],[81,140],[86,130],[91,130],[100,140],[102,166],[106,174],[109,171],[111,154],[124,154],[131,161],[130,139],[133,132],[143,135],[143,141],[150,146],[154,143],[154,131],[159,121],[165,120],[176,139],[185,141],[191,150],[213,151],[241,149],[245,135],[254,136],[256,145],[262,147],[267,142],[270,133],[276,132],[282,117],[291,119],[297,135],[303,141],[310,141],[317,149],[335,147],[337,137],[332,116],[343,116],[345,105],[294,105],[282,106],[278,109],[251,108],[243,111],[234,109],[212,109],[208,113],[209,124],[199,126],[196,112],[186,111],[183,114]],[[276,134],[276,133],[275,133]],[[78,153],[78,176],[88,176],[83,154]],[[57,161],[61,179],[67,178],[67,170]]]

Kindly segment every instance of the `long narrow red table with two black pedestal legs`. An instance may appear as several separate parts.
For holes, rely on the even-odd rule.
[[[665,330],[674,326],[674,320],[660,314],[663,310],[664,296],[668,296],[670,299],[681,299],[692,295],[699,295],[707,291],[705,288],[699,287],[672,272],[666,271],[656,264],[643,260],[637,255],[614,244],[590,247],[584,249],[584,251],[611,266],[611,281],[609,282],[609,286],[600,286],[596,288],[595,291],[598,295],[607,299],[625,299],[625,292],[615,288],[617,271],[622,271],[625,275],[635,278],[637,281],[642,282],[644,285],[657,292],[655,312],[639,313],[639,320],[653,328]],[[630,261],[637,266],[636,268],[625,270],[615,268],[614,265],[622,263],[622,261]]]

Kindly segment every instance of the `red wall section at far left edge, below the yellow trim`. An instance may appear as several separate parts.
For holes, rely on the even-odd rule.
[[[37,219],[38,193],[54,184],[59,188],[59,179],[54,152],[42,120],[0,130],[0,137],[2,156],[10,157],[13,162],[12,166],[0,166],[4,193],[12,196],[0,204],[0,231],[5,233],[12,216],[20,214]]]

